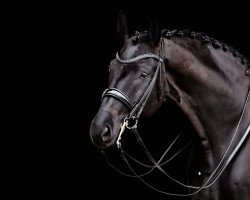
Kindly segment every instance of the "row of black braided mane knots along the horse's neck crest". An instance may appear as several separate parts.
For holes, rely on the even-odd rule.
[[[223,42],[220,42],[214,38],[211,38],[207,36],[205,33],[197,33],[192,30],[167,30],[164,29],[161,31],[161,36],[164,38],[170,39],[171,37],[188,37],[190,39],[197,39],[200,40],[202,44],[211,44],[213,48],[215,49],[222,49],[225,52],[229,52],[233,55],[233,57],[238,57],[241,60],[241,64],[246,66],[246,75],[250,76],[250,63],[247,61],[247,59],[242,56],[238,51],[236,51],[234,48],[224,44]]]

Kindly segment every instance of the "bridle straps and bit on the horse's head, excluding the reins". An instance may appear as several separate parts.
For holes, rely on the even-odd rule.
[[[161,47],[162,47],[162,40],[161,40]],[[160,55],[161,55],[161,51],[160,51]],[[146,54],[142,54],[142,55],[136,56],[134,58],[131,58],[129,60],[123,60],[120,58],[119,53],[118,52],[116,53],[116,59],[120,63],[123,63],[123,64],[134,63],[134,62],[137,62],[139,60],[146,59],[146,58],[156,59],[158,61],[158,63],[157,63],[157,68],[156,68],[156,71],[153,75],[153,78],[151,79],[147,89],[145,90],[144,94],[142,95],[142,97],[140,98],[140,100],[137,103],[133,104],[132,101],[122,91],[120,91],[117,88],[108,88],[102,94],[102,99],[104,97],[113,97],[116,100],[123,103],[130,111],[129,115],[124,119],[124,123],[121,127],[119,136],[118,136],[117,141],[116,141],[118,148],[121,145],[120,144],[121,134],[124,132],[125,128],[128,128],[128,129],[136,128],[138,118],[140,117],[141,112],[143,111],[143,108],[144,108],[144,106],[145,106],[145,104],[146,104],[146,102],[147,102],[147,100],[148,100],[148,98],[149,98],[149,96],[154,88],[154,85],[156,83],[163,59],[156,54],[146,53]]]

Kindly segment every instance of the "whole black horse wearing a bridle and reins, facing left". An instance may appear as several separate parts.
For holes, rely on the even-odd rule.
[[[148,31],[129,37],[125,16],[120,14],[118,32],[125,44],[109,66],[109,88],[90,128],[93,143],[102,150],[117,144],[124,156],[120,139],[130,129],[154,168],[162,170],[142,142],[137,122],[141,114],[151,117],[171,99],[191,122],[198,139],[190,156],[188,183],[180,183],[189,193],[170,195],[250,199],[247,60],[202,33],[160,31],[155,20]]]

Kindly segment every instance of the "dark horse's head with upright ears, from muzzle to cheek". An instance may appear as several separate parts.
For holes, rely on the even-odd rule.
[[[118,16],[117,29],[124,45],[109,65],[109,87],[102,95],[100,109],[93,119],[90,137],[100,148],[118,140],[124,119],[133,112],[152,116],[167,92],[160,58],[160,32],[156,20],[148,31],[128,36],[125,16]],[[156,74],[157,68],[160,68]],[[152,83],[154,82],[154,83]],[[146,105],[145,105],[146,104]]]

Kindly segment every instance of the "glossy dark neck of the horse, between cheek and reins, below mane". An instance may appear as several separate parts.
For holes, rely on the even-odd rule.
[[[164,60],[169,96],[189,118],[203,147],[220,156],[234,134],[250,88],[244,66],[228,52],[185,38],[164,39]],[[249,124],[249,112],[250,102],[235,142]]]

